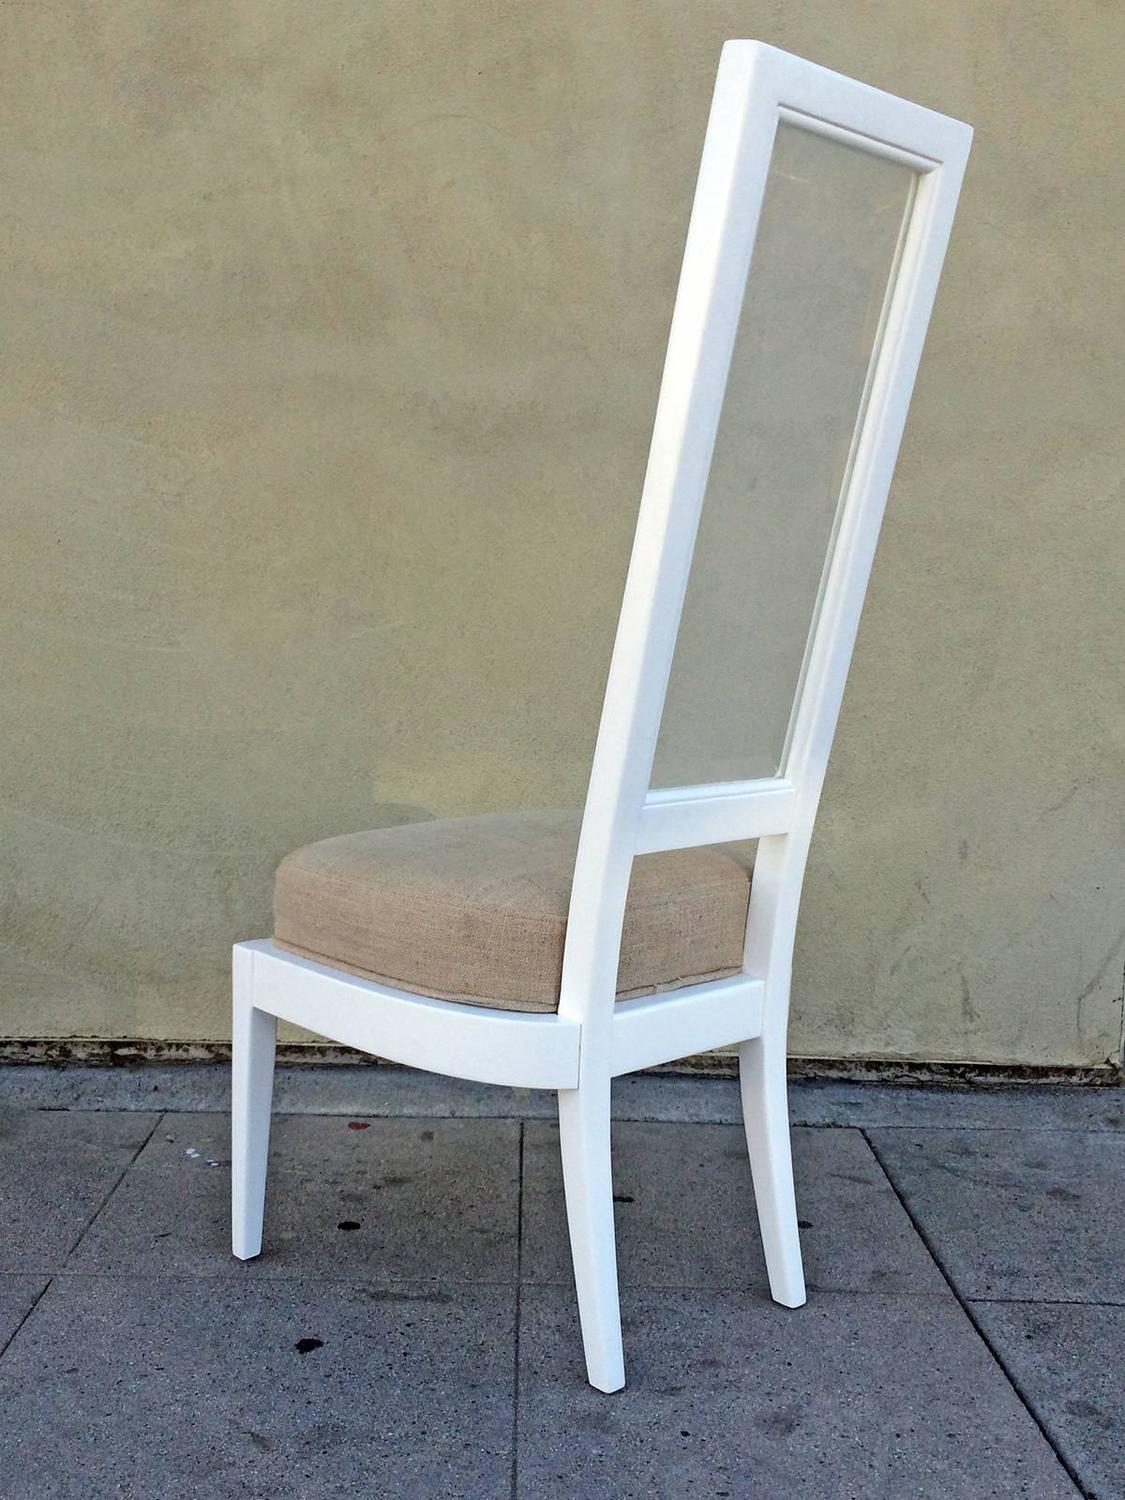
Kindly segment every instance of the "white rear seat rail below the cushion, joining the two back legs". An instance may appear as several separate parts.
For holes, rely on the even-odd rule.
[[[609,1070],[616,1078],[758,1036],[764,1005],[765,984],[747,974],[618,1000]]]

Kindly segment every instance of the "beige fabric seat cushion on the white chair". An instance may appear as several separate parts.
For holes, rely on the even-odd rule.
[[[400,990],[554,1011],[578,849],[576,813],[510,813],[324,838],[282,860],[274,940]],[[750,854],[642,855],[618,994],[736,974]]]

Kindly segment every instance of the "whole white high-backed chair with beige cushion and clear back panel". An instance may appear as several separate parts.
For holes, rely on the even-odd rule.
[[[759,42],[723,48],[585,808],[284,861],[273,940],[234,950],[240,1258],[261,1250],[279,1017],[555,1089],[586,1370],[616,1390],[610,1082],[736,1046],[770,1288],[804,1302],[794,932],[970,136]]]

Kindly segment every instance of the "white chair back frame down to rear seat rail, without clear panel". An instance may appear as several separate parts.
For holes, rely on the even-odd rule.
[[[916,186],[884,303],[782,770],[753,782],[650,790],[780,122],[906,165],[918,174]],[[580,1024],[584,1078],[684,1056],[700,1046],[784,1035],[808,843],[970,141],[970,128],[958,120],[760,42],[723,48],[574,867],[560,1018]],[[760,840],[746,939],[750,982],[720,981],[615,1004],[634,855],[735,838]],[[758,1012],[746,1016],[746,1029],[730,1017],[740,996]],[[722,1017],[712,1035],[699,1024],[708,1006]],[[636,1035],[640,1042],[652,1026],[656,1040],[622,1046],[622,1036]]]

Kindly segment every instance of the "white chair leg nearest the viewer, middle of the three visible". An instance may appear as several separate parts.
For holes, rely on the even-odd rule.
[[[614,1179],[609,1148],[609,1078],[558,1095],[562,1185],[586,1374],[596,1390],[626,1383],[616,1287]]]

